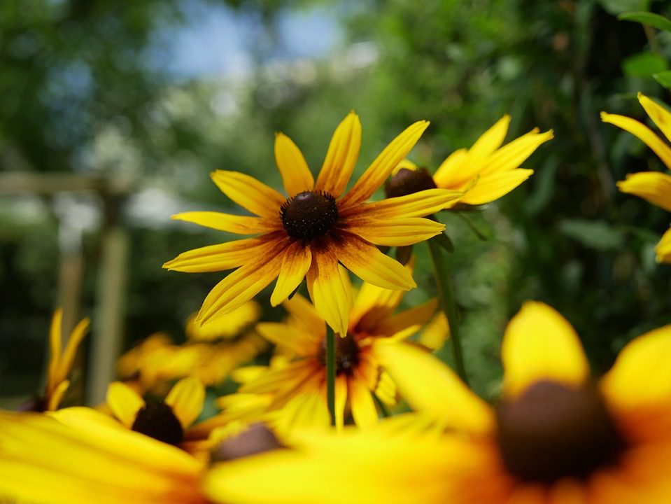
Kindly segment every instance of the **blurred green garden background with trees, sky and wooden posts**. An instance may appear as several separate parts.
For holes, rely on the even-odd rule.
[[[281,188],[280,130],[316,172],[351,109],[363,125],[355,176],[419,119],[432,124],[411,158],[432,171],[504,113],[508,141],[554,129],[523,186],[441,217],[466,365],[493,397],[505,325],[536,299],[607,370],[629,339],[671,322],[671,266],[654,260],[670,216],[615,186],[665,168],[599,119],[644,120],[637,91],[671,103],[652,78],[668,69],[671,34],[617,19],[632,10],[671,14],[651,0],[3,0],[0,406],[43,384],[57,306],[66,330],[92,316],[90,401],[121,351],[159,330],[183,340],[223,274],[161,265],[232,236],[171,214],[240,211],[211,183],[214,169]],[[424,245],[416,252],[407,304],[435,295]]]

